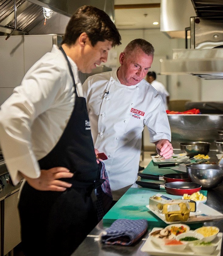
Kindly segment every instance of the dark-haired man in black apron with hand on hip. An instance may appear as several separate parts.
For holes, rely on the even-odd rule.
[[[100,178],[78,70],[90,73],[120,44],[109,16],[82,6],[62,46],[38,60],[1,106],[2,152],[19,199],[24,254],[69,256],[97,224]],[[99,182],[100,184],[100,182]]]

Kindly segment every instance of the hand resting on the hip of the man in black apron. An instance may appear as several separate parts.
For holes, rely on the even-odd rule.
[[[37,190],[63,192],[72,186],[71,183],[59,180],[60,178],[72,178],[73,173],[64,167],[54,167],[49,170],[41,170],[39,178],[30,178],[23,175],[28,184]]]

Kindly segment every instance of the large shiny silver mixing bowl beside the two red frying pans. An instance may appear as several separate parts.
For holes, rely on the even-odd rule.
[[[200,184],[202,189],[215,188],[223,181],[223,165],[188,164],[186,168],[191,181]]]

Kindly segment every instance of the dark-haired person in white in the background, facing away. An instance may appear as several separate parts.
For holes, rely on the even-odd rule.
[[[156,80],[156,73],[154,71],[149,71],[146,75],[146,80],[158,91],[158,93],[162,97],[165,109],[168,110],[170,94],[168,93],[164,85]]]

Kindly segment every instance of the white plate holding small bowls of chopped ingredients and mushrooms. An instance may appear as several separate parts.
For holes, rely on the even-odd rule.
[[[152,231],[156,230],[154,228]],[[221,256],[221,242],[222,242],[222,233],[218,233],[218,236],[212,241],[213,243],[218,243],[217,249],[211,254],[213,256]],[[150,255],[158,255],[158,256],[204,256],[204,254],[196,254],[191,251],[188,247],[186,247],[183,251],[163,251],[158,245],[151,241],[151,238],[148,237],[146,242],[143,244],[141,251],[148,252]],[[207,254],[206,254],[207,255]],[[210,254],[208,254],[210,255]]]

